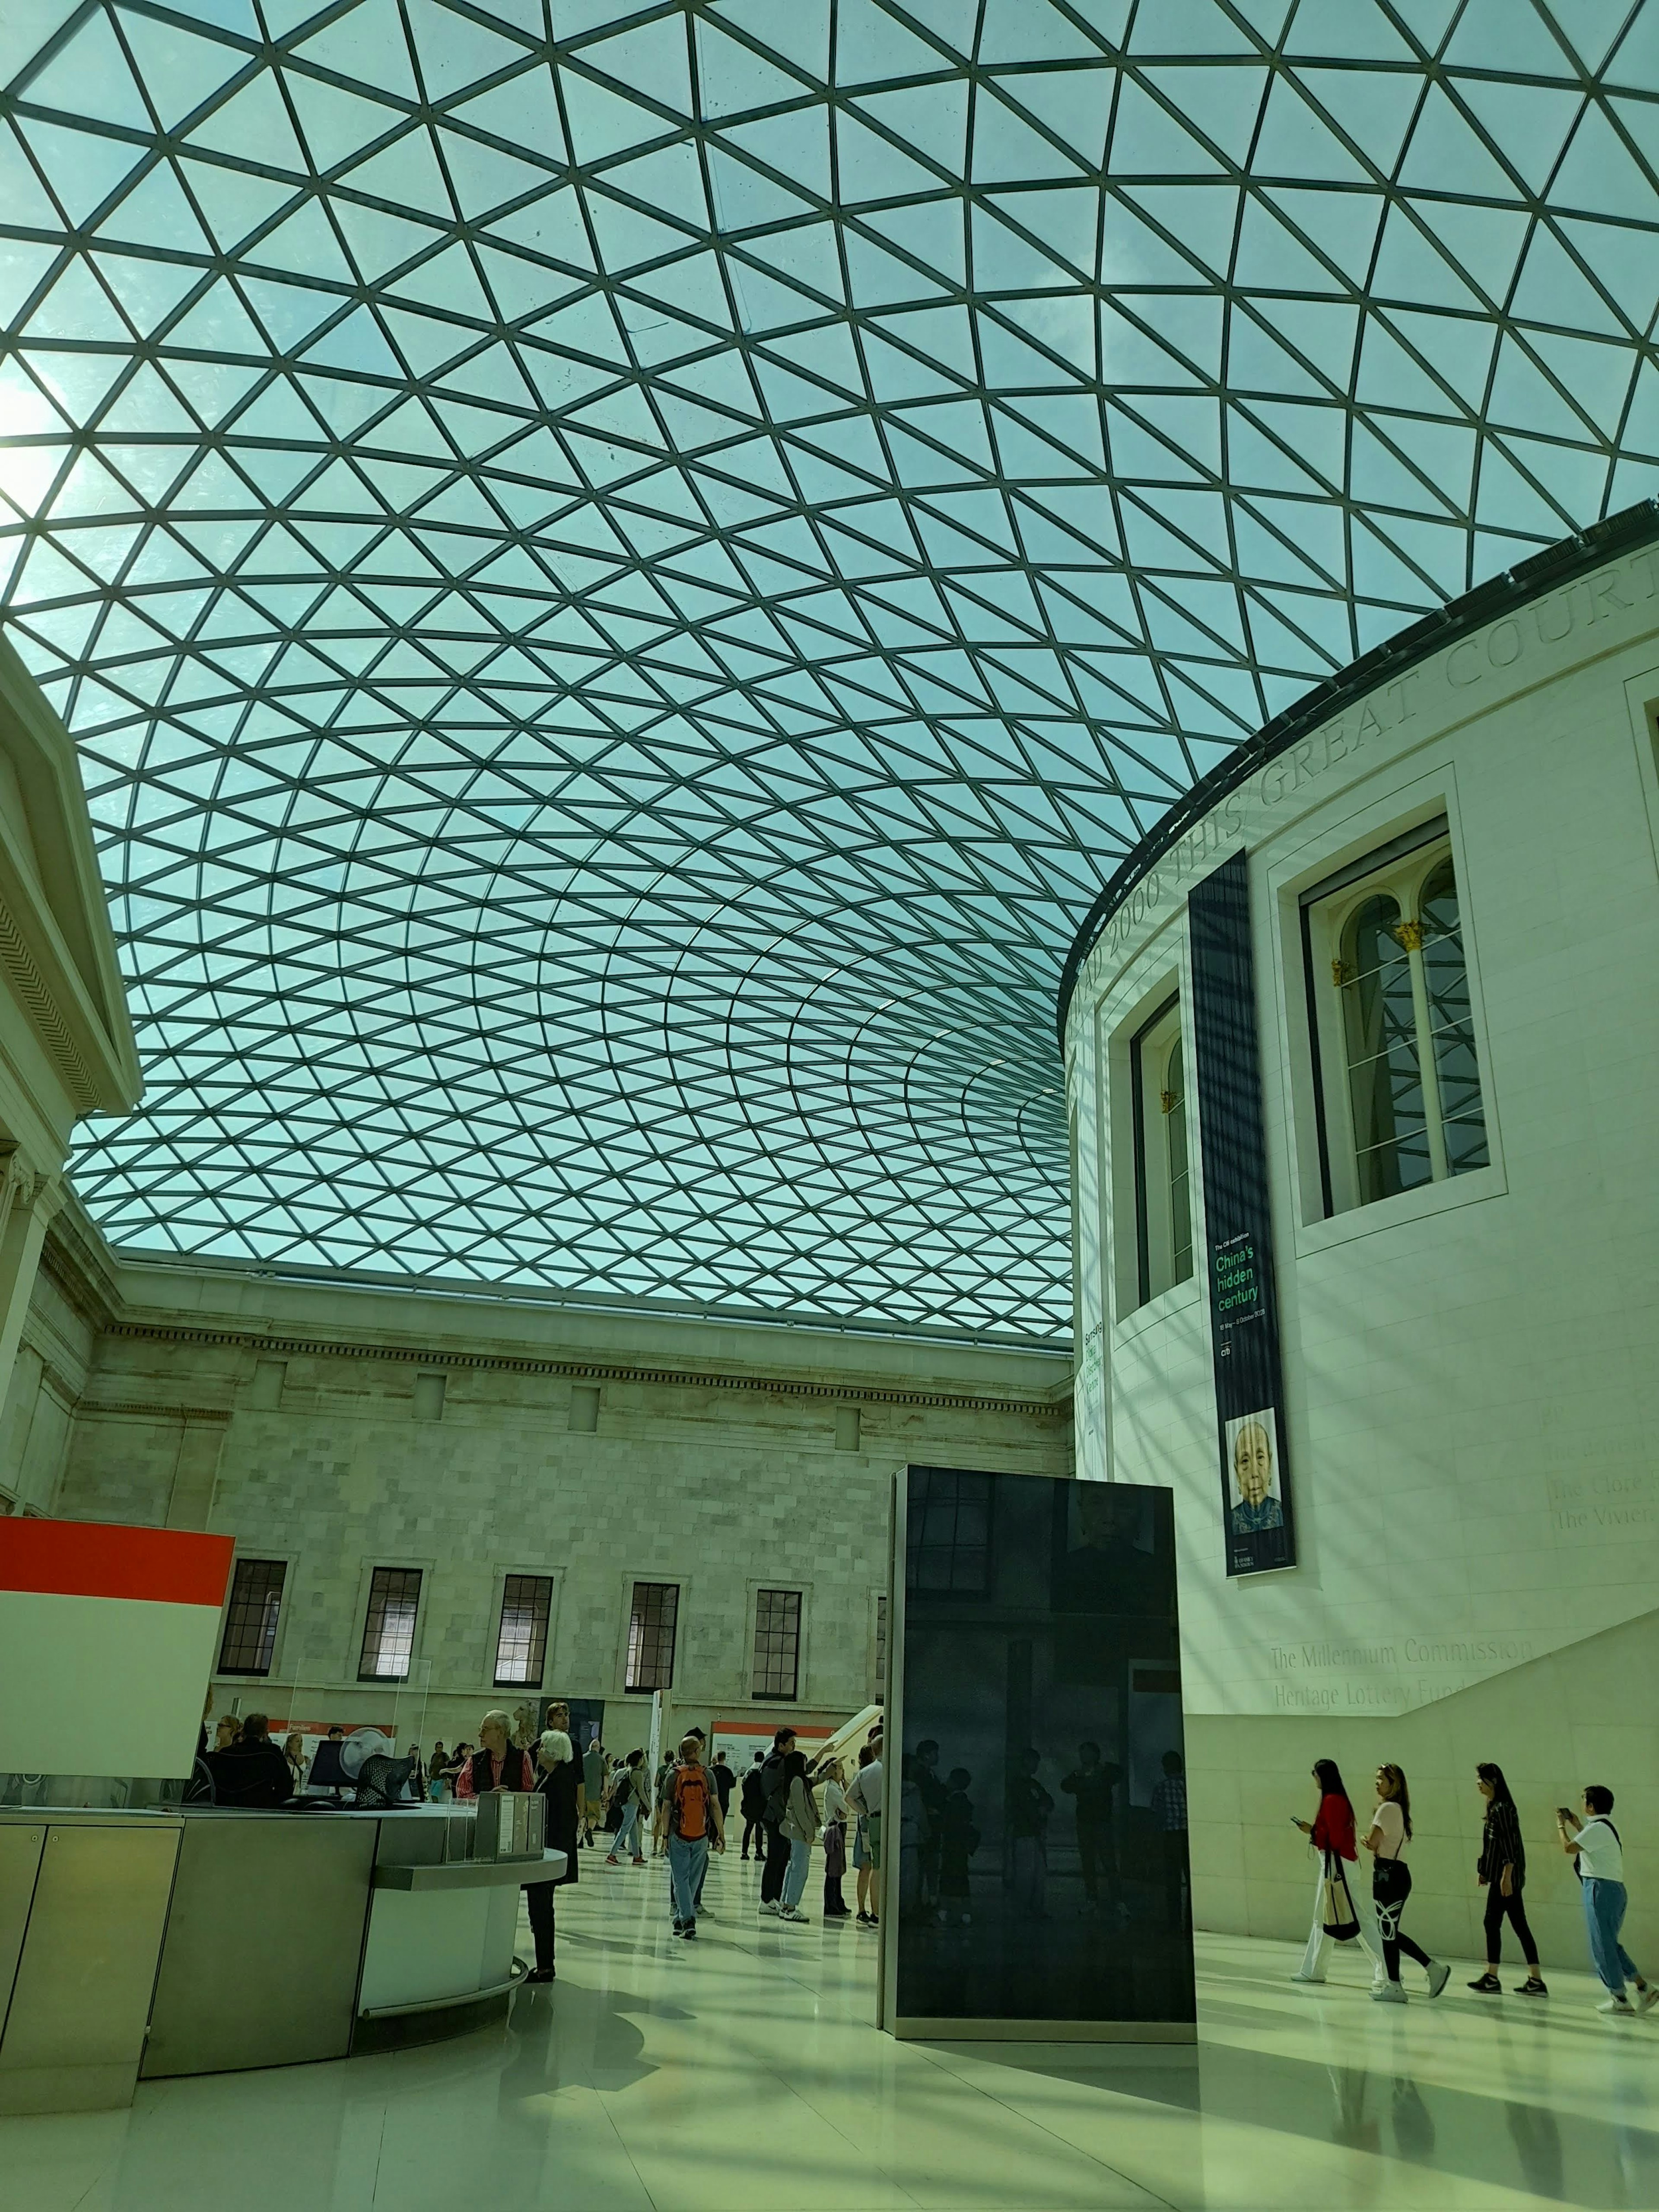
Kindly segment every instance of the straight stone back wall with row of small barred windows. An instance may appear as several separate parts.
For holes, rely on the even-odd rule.
[[[633,1579],[677,1582],[677,1719],[774,1710],[750,1697],[754,1590],[799,1588],[779,1710],[845,1717],[872,1692],[894,1469],[1071,1469],[1055,1354],[117,1274],[55,1509],[290,1562],[272,1679],[223,1681],[223,1708],[392,1719],[394,1692],[356,1681],[367,1577],[420,1566],[400,1734],[476,1736],[524,1694],[491,1686],[507,1573],[555,1579],[546,1692],[615,1703]],[[438,1420],[422,1376],[445,1378]],[[639,1734],[648,1701],[628,1703]]]

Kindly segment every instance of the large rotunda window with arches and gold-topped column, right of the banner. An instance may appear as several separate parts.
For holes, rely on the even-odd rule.
[[[1484,1168],[1444,818],[1314,885],[1301,905],[1325,1212]]]

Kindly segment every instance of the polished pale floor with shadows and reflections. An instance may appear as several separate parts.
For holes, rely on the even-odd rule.
[[[1199,1938],[1197,2053],[894,2044],[874,1938],[754,1913],[714,1863],[695,1947],[666,1876],[584,1854],[560,1980],[398,2057],[159,2081],[0,2121],[11,2212],[1071,2212],[1659,2205],[1659,2015],[1551,1997],[1371,2004],[1338,1962]],[[303,1940],[303,1938],[296,1938]],[[524,1944],[529,1951],[529,1942]],[[234,1973],[234,1960],[226,1962]],[[1336,1980],[1336,1975],[1354,1980]],[[1413,1975],[1409,1986],[1420,1984]],[[1517,1980],[1517,1975],[1506,1975]]]

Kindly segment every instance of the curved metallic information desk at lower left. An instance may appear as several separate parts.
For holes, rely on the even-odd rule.
[[[343,2059],[502,2013],[520,1889],[564,1854],[453,1847],[436,1805],[0,1812],[0,2112],[122,2106],[139,2077]]]

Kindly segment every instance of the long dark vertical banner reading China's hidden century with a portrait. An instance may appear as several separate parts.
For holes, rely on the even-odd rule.
[[[1296,1564],[1261,1126],[1250,878],[1234,852],[1188,894],[1199,1164],[1228,1573]]]

